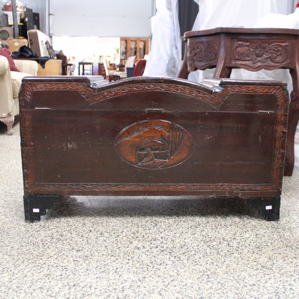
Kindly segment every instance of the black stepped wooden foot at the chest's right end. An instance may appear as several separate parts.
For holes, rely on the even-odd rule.
[[[259,211],[267,221],[279,220],[280,196],[245,198],[245,203],[252,205],[252,209]]]

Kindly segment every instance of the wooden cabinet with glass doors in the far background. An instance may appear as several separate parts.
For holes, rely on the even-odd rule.
[[[128,59],[130,56],[136,56],[136,59],[142,59],[144,55],[149,53],[148,38],[120,38],[120,62]]]

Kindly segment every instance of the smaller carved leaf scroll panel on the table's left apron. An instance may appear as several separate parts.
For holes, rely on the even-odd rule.
[[[216,42],[188,42],[187,65],[188,71],[205,69],[208,65],[216,63]]]

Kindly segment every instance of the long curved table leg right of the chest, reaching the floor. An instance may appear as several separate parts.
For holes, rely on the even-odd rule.
[[[298,63],[298,62],[297,62]],[[298,65],[299,68],[299,65]],[[297,69],[290,70],[293,79],[293,88],[291,92],[291,101],[289,106],[288,134],[286,138],[286,161],[284,165],[284,175],[292,176],[294,168],[294,138],[297,123],[299,120],[299,74]]]

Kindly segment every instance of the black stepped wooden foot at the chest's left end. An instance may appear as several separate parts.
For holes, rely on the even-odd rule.
[[[25,221],[39,221],[40,216],[46,215],[46,210],[52,209],[53,204],[60,201],[60,195],[24,196]]]

